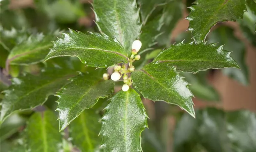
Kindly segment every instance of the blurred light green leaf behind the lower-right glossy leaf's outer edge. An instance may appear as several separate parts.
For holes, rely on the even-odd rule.
[[[212,85],[207,82],[207,71],[201,71],[197,74],[189,72],[180,73],[185,77],[185,80],[190,84],[189,88],[196,98],[200,98],[205,101],[219,101],[219,93],[213,88]]]

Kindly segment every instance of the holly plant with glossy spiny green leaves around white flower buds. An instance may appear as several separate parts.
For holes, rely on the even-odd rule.
[[[169,32],[174,26],[170,24],[178,19],[169,16],[182,4],[179,0],[94,0],[91,5],[98,29],[90,32],[70,28],[69,32],[55,29],[43,34],[1,26],[1,44],[9,52],[2,67],[5,75],[12,76],[11,85],[3,91],[1,123],[17,117],[17,112],[32,115],[24,129],[25,140],[15,143],[23,147],[20,150],[69,151],[74,145],[84,152],[142,151],[141,133],[148,128],[149,118],[144,98],[180,107],[190,115],[178,124],[185,127],[184,121],[195,123],[196,113],[201,118],[201,112],[194,111],[194,91],[183,76],[208,69],[244,68],[225,45],[206,37],[218,22],[241,20],[247,8],[255,6],[251,1],[197,0],[186,18],[192,39],[172,45]],[[41,12],[51,10],[49,20],[54,21],[55,4],[46,7],[44,2],[36,4]],[[78,5],[58,2],[68,8]],[[72,13],[72,21],[81,14]],[[51,23],[57,26],[58,22]],[[51,95],[56,96],[57,107],[47,105],[55,98]],[[58,112],[58,121],[52,109]],[[69,138],[63,140],[63,134]]]

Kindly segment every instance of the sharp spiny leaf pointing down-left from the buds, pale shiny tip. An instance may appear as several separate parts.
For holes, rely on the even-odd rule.
[[[95,105],[99,98],[108,97],[114,91],[114,81],[105,81],[102,75],[80,74],[71,81],[57,92],[60,130],[64,130],[84,109]]]

